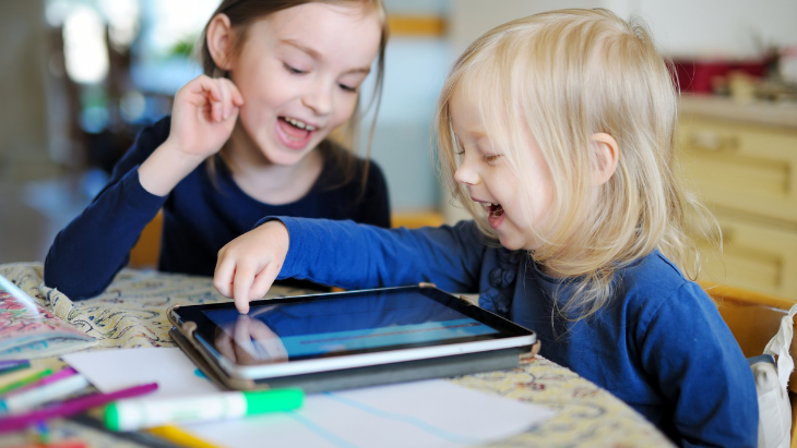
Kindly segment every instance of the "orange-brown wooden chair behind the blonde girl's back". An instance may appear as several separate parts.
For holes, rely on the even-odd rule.
[[[777,334],[781,320],[788,315],[795,302],[776,295],[742,288],[702,282],[719,314],[734,334],[745,356],[762,354],[764,347]],[[792,339],[792,359],[797,360],[797,338]],[[788,380],[788,399],[792,402],[792,448],[797,448],[797,370]]]

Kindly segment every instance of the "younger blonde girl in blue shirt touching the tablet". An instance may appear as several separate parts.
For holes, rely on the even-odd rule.
[[[689,280],[676,119],[644,26],[604,10],[501,25],[456,61],[437,111],[443,178],[475,220],[381,230],[269,217],[222,250],[214,284],[241,313],[274,278],[478,291],[537,332],[540,354],[676,444],[756,446],[751,371]]]

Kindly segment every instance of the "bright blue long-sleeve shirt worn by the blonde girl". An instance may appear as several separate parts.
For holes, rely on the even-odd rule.
[[[571,322],[554,306],[568,296],[568,281],[543,274],[524,251],[486,240],[473,221],[385,230],[278,219],[290,235],[278,278],[478,291],[480,306],[537,332],[542,355],[609,390],[676,444],[757,445],[756,384],[741,349],[706,293],[658,251],[617,273],[595,315]]]

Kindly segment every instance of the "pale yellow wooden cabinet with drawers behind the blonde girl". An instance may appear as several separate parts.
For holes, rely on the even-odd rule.
[[[701,278],[797,300],[797,105],[683,96],[679,125],[687,185],[723,234]],[[701,252],[717,243],[699,238]]]

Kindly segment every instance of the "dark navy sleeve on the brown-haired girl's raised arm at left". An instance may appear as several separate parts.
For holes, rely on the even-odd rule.
[[[45,284],[71,300],[99,294],[124,267],[144,227],[166,201],[144,190],[139,165],[168,136],[170,120],[142,131],[108,184],[63,228],[45,259]]]

